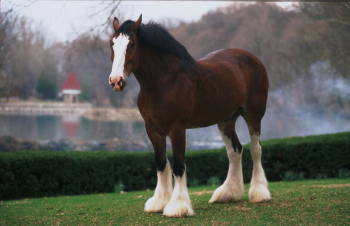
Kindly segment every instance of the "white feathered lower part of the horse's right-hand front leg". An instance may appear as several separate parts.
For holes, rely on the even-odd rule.
[[[190,195],[187,190],[186,173],[174,178],[173,195],[166,205],[163,214],[168,217],[185,217],[194,215]]]

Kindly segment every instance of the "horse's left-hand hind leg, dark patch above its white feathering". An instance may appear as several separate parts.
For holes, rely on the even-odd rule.
[[[241,163],[243,147],[234,130],[238,117],[239,114],[236,114],[230,121],[217,124],[221,138],[225,142],[230,166],[225,182],[214,191],[209,203],[227,203],[232,200],[238,200],[244,192]]]

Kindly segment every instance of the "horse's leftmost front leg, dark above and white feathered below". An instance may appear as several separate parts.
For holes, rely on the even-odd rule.
[[[155,149],[158,182],[155,194],[146,202],[144,211],[163,212],[173,192],[173,176],[166,154],[166,135],[156,134],[147,124],[146,131]]]

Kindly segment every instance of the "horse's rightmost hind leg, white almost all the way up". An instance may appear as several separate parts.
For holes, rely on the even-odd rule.
[[[249,201],[253,203],[264,202],[271,199],[268,189],[268,182],[261,165],[261,146],[260,146],[260,122],[261,118],[256,115],[250,115],[246,112],[243,116],[247,122],[249,134],[251,137],[251,155],[253,158],[253,175],[251,187],[249,189]]]

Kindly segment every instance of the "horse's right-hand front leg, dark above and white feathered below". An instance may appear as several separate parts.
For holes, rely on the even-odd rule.
[[[194,215],[190,195],[187,190],[185,168],[185,129],[172,130],[169,137],[173,147],[174,191],[163,214],[168,217],[186,217]]]

